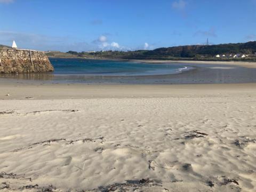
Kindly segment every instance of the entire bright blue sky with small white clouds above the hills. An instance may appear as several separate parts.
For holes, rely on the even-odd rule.
[[[256,40],[256,0],[0,0],[0,44],[156,49]]]

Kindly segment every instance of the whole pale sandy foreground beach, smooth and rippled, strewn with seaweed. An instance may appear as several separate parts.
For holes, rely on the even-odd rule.
[[[256,84],[0,89],[3,191],[256,190]]]

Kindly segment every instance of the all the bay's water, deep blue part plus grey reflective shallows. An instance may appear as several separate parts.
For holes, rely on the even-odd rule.
[[[256,83],[256,69],[216,63],[143,63],[121,60],[50,58],[54,72],[0,74],[0,81],[56,84]]]

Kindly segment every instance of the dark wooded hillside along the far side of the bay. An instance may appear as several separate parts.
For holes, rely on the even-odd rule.
[[[49,57],[77,57],[94,59],[170,59],[170,60],[234,60],[233,57],[215,58],[217,54],[246,54],[249,57],[235,60],[256,60],[256,41],[247,43],[229,43],[219,45],[185,45],[155,50],[104,51],[104,52],[49,52]]]

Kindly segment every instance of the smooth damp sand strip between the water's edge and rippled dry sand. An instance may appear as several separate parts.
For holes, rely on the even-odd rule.
[[[0,99],[91,99],[91,98],[169,98],[211,97],[218,93],[241,94],[256,89],[256,83],[245,84],[49,84],[41,82],[0,81]],[[10,94],[9,96],[6,96]]]

